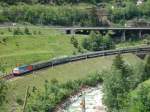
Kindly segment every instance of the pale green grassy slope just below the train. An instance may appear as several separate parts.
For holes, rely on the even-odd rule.
[[[13,79],[10,81],[9,103],[4,108],[8,111],[8,109],[11,110],[17,107],[18,110],[16,111],[19,112],[22,106],[16,104],[15,101],[16,98],[24,98],[28,85],[42,89],[45,80],[57,79],[60,82],[65,82],[67,80],[81,79],[91,73],[109,69],[113,58],[114,56],[108,56],[73,62]],[[124,55],[124,59],[133,65],[140,61],[139,58],[132,54]],[[14,104],[16,105],[15,107]]]

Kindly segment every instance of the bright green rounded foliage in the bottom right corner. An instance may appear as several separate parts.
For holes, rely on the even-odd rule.
[[[149,81],[140,84],[129,99],[128,112],[149,112],[150,111],[150,86]]]

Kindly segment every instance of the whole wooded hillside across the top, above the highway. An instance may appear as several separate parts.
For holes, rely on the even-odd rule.
[[[135,26],[137,26],[142,24],[146,25],[150,16],[149,0],[140,6],[136,5],[135,0],[124,0],[120,2],[116,0],[42,0],[42,2],[37,0],[8,0],[3,2],[11,5],[1,5],[0,22],[29,22],[32,24],[62,26],[125,26],[125,23],[132,20],[132,23],[135,23]],[[104,12],[102,7],[99,6],[99,3],[103,4],[104,2],[107,2],[105,3],[104,10],[109,15],[106,18],[100,16]],[[59,6],[43,5],[45,3],[59,4]],[[73,5],[66,5],[68,3]],[[96,7],[93,7],[91,4],[81,5],[76,3],[92,3]],[[76,7],[77,5],[78,7]],[[102,12],[97,12],[97,9],[102,10]],[[139,18],[143,18],[145,22],[139,21]],[[134,20],[136,21],[134,22]]]

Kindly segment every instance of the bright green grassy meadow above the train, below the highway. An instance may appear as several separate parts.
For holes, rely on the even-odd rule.
[[[42,34],[12,36],[12,32],[8,32],[8,29],[0,29],[0,32],[4,32],[0,40],[7,37],[5,44],[0,43],[0,63],[4,65],[6,71],[11,71],[16,64],[28,64],[62,55],[72,55],[76,50],[70,43],[68,35],[50,29],[32,28],[31,30],[37,33],[41,31]]]

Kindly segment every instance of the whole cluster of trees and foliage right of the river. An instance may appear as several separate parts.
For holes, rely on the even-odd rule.
[[[137,65],[136,65],[137,66]],[[108,111],[147,112],[149,110],[149,87],[140,86],[130,95],[138,84],[149,79],[149,56],[145,63],[136,69],[127,65],[120,55],[114,59],[111,71],[104,79],[104,103]],[[135,103],[136,101],[136,103]]]

